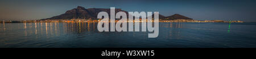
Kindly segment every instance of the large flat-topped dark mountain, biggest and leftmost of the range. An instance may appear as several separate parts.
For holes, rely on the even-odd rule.
[[[109,14],[110,18],[110,8],[84,8],[78,6],[77,8],[73,8],[72,10],[68,10],[65,13],[59,16],[53,16],[48,19],[97,19],[97,15],[99,12],[105,11]],[[115,9],[115,13],[123,11],[121,9]],[[128,13],[127,11],[123,11]]]

